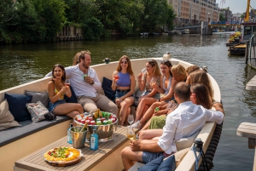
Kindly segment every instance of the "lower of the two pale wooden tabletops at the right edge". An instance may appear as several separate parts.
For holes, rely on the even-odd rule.
[[[255,149],[253,171],[256,171],[256,123],[241,123],[237,128],[236,134],[247,137],[249,149]]]

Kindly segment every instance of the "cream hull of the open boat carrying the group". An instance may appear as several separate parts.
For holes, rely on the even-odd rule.
[[[158,62],[160,65],[161,60],[171,60],[172,65],[182,65],[185,68],[188,66],[191,66],[192,64],[183,61],[183,60],[177,60],[177,59],[168,59],[171,55],[166,54],[160,58],[152,58]],[[131,60],[131,66],[133,68],[133,71],[135,73],[135,76],[137,76],[141,70],[145,67],[146,62],[148,59],[137,59],[137,60]],[[91,68],[96,70],[97,76],[101,82],[103,82],[103,77],[106,77],[108,79],[112,79],[113,70],[109,70],[109,68],[116,68],[118,65],[118,61],[109,62],[108,64],[98,64],[95,66],[90,66]],[[208,73],[207,73],[208,74]],[[213,99],[216,101],[221,101],[221,94],[220,89],[218,87],[218,83],[215,81],[215,79],[208,74],[210,81],[212,83],[213,88]],[[25,91],[33,91],[33,92],[46,92],[47,91],[47,85],[51,77],[45,77],[36,81],[33,81],[31,83],[25,83],[19,86],[16,86],[14,88],[8,88],[0,91],[0,102],[4,100],[4,94],[25,94]],[[138,86],[136,85],[136,90],[138,89]],[[131,112],[135,114],[135,107],[132,107]],[[117,115],[119,116],[119,115]],[[65,117],[65,116],[63,116]],[[67,136],[67,128],[69,128],[69,124],[72,122],[72,119],[65,117],[65,119],[62,119],[63,117],[57,117],[56,122],[50,123],[48,126],[44,126],[40,129],[30,130],[29,133],[17,135],[17,137],[12,137],[9,140],[6,140],[6,142],[3,142],[3,138],[6,138],[6,136],[11,136],[11,131],[15,131],[16,134],[21,134],[22,129],[26,128],[27,125],[23,125],[22,127],[16,127],[16,128],[10,128],[5,129],[3,131],[0,131],[0,165],[1,169],[3,170],[12,170],[15,165],[15,170],[27,170],[26,168],[20,168],[19,165],[16,165],[17,160],[19,160],[22,157],[26,157],[27,155],[38,151],[38,149],[44,148],[44,146],[49,145],[50,143],[55,142],[56,140],[60,140],[61,138]],[[40,124],[40,123],[32,123],[31,121],[27,121],[27,123],[33,124],[33,126]],[[46,121],[48,122],[48,121]],[[33,127],[32,127],[33,128]],[[119,128],[118,128],[119,129]],[[10,131],[11,130],[11,131]],[[204,142],[202,148],[203,151],[206,152],[207,158],[207,164],[212,165],[212,158],[214,156],[214,153],[217,149],[218,140],[220,138],[220,134],[222,131],[222,124],[216,124],[216,123],[206,123],[206,125],[201,129],[201,132],[197,135],[197,138],[201,138],[201,140]],[[114,140],[114,139],[113,139]],[[193,141],[194,142],[194,141]],[[188,145],[188,151],[183,156],[183,160],[179,163],[177,167],[178,170],[195,170],[195,155],[192,150],[193,145]],[[113,163],[116,163],[120,161],[120,150],[116,150],[116,156],[111,157],[111,161],[106,166],[104,166],[104,169],[106,171],[113,170]],[[43,157],[43,155],[42,155]],[[106,157],[109,158],[109,157]],[[86,158],[84,160],[86,162]],[[200,166],[201,161],[198,163]],[[80,163],[79,163],[80,164]],[[204,163],[206,164],[206,163]],[[44,164],[45,165],[45,164]],[[95,166],[97,163],[94,164]],[[202,165],[202,163],[201,163]],[[74,165],[75,166],[75,165]],[[56,168],[56,169],[65,169],[65,168]],[[123,170],[124,168],[120,164],[119,168],[115,168],[114,170]]]

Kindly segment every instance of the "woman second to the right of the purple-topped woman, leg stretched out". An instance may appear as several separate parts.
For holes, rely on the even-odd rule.
[[[173,90],[177,81],[172,77],[172,63],[170,60],[161,60],[160,69],[163,75],[160,77],[160,87],[156,84],[153,85],[154,90],[160,94],[165,94],[163,97],[159,98],[153,105],[151,105],[146,113],[143,115],[142,119],[133,123],[132,128],[141,128],[150,117],[154,114],[154,109],[156,107],[166,105],[173,98]]]

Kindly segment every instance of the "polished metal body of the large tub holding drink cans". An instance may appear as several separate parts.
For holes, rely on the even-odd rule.
[[[82,127],[84,126],[84,123],[79,123],[75,118],[73,118],[73,121],[74,123],[76,123],[77,126],[82,126]],[[110,123],[107,125],[90,125],[89,124],[87,125],[88,133],[86,135],[86,140],[87,141],[90,140],[90,134],[93,133],[92,132],[93,129],[96,129],[96,133],[99,136],[99,142],[107,142],[108,140],[113,140],[113,131],[117,129],[117,126],[118,126],[118,119],[116,119],[114,123]]]

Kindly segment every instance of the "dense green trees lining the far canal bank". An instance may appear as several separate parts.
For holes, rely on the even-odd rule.
[[[85,39],[169,29],[175,18],[166,0],[1,0],[0,41],[55,41],[63,26],[81,27]]]

